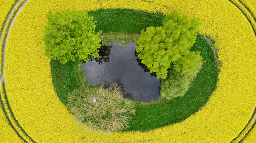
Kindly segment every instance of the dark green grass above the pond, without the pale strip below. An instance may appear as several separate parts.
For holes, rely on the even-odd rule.
[[[102,34],[109,32],[140,34],[142,29],[161,26],[164,17],[135,10],[109,9],[89,12],[97,21],[95,32],[103,30]]]

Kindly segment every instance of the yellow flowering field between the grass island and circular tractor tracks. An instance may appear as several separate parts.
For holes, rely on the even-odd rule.
[[[183,122],[149,132],[99,134],[77,125],[53,89],[50,60],[44,56],[41,42],[46,21],[44,13],[100,8],[161,11],[163,14],[178,9],[189,17],[201,18],[200,34],[216,40],[222,61],[217,89],[208,103]],[[247,124],[255,106],[255,44],[247,19],[228,1],[30,1],[18,16],[9,37],[6,91],[15,117],[37,142],[230,142]]]

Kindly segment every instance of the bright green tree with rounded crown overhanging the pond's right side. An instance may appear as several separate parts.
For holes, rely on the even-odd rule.
[[[142,30],[136,48],[141,63],[162,79],[170,68],[183,73],[195,70],[202,58],[199,51],[189,49],[196,41],[200,25],[198,18],[188,19],[175,10],[166,15],[163,26]]]

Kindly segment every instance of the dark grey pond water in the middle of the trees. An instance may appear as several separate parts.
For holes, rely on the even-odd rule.
[[[82,65],[86,81],[97,86],[118,82],[125,98],[144,102],[157,100],[160,79],[140,63],[135,52],[137,44],[110,42],[110,45],[101,46],[100,57]]]

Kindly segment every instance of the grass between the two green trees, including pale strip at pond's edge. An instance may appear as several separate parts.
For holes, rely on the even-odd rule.
[[[99,9],[88,12],[97,21],[95,32],[102,31],[102,45],[109,41],[137,42],[142,29],[161,26],[164,17],[159,14],[145,13],[129,9]]]

